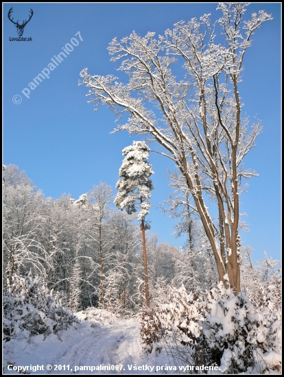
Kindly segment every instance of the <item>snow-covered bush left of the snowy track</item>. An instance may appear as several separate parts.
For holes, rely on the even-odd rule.
[[[57,295],[47,289],[42,278],[14,274],[12,284],[3,295],[4,340],[16,339],[24,332],[27,337],[52,332],[59,337],[60,330],[78,324],[72,312],[62,306]]]

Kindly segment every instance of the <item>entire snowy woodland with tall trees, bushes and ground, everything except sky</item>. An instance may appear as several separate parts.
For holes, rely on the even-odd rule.
[[[248,18],[248,5],[113,38],[121,77],[82,69],[88,103],[115,114],[113,132],[139,136],[122,150],[115,191],[100,182],[45,197],[3,165],[4,373],[38,372],[40,360],[67,374],[281,374],[281,265],[265,253],[255,263],[241,240],[261,121],[250,123],[239,90],[252,35],[272,20]],[[183,247],[150,231],[155,146],[174,166],[163,210]]]

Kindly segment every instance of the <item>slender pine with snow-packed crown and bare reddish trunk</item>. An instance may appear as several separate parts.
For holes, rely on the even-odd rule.
[[[145,296],[147,307],[150,306],[147,258],[146,258],[146,241],[145,241],[145,216],[149,213],[150,208],[150,191],[154,189],[150,176],[154,173],[152,165],[147,162],[150,148],[145,141],[133,141],[133,144],[123,149],[122,154],[126,156],[119,169],[121,179],[117,182],[115,188],[118,190],[115,197],[115,205],[131,215],[139,212],[137,219],[141,221],[142,243],[143,243],[143,261],[145,273]]]

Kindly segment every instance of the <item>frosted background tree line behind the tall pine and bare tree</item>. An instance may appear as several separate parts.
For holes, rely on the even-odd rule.
[[[146,304],[141,226],[134,214],[113,208],[113,199],[110,186],[102,182],[77,200],[44,197],[19,167],[5,167],[4,289],[14,275],[30,273],[42,277],[73,311],[89,306],[121,315],[140,311]],[[168,285],[184,284],[200,293],[218,280],[208,240],[195,221],[184,248],[158,243],[158,234],[146,237],[146,247],[151,306]],[[266,257],[255,267],[251,249],[244,247],[243,289],[250,297],[261,300],[263,284],[279,284],[276,265]]]

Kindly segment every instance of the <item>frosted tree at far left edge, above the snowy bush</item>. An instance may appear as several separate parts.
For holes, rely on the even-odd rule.
[[[40,242],[44,206],[43,193],[36,191],[25,172],[8,165],[3,171],[3,267],[9,284],[14,273],[30,269],[45,275],[49,255]]]

